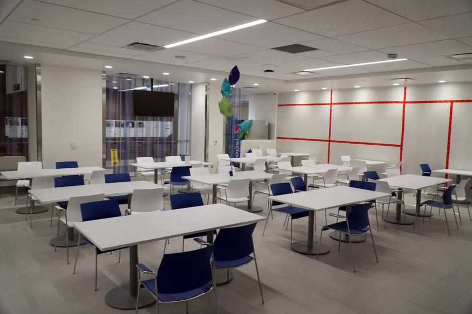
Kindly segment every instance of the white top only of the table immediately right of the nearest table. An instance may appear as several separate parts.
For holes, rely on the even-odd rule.
[[[329,208],[377,199],[388,195],[387,193],[355,187],[335,186],[307,192],[270,196],[268,198],[311,211],[324,211]]]

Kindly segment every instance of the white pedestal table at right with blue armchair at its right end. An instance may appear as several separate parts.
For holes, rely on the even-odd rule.
[[[405,210],[405,213],[408,215],[413,215],[413,216],[415,216],[416,214],[418,214],[418,216],[423,216],[423,214],[420,214],[419,208],[418,208],[418,205],[421,203],[421,190],[429,186],[448,183],[448,182],[451,182],[452,180],[444,179],[444,178],[436,178],[436,177],[427,177],[427,176],[416,175],[416,174],[402,174],[395,177],[383,178],[383,179],[380,179],[380,181],[388,182],[388,185],[390,185],[390,187],[394,187],[394,188],[398,188],[402,190],[403,189],[416,190],[415,210],[413,212]],[[403,199],[403,193],[402,192],[397,193],[397,198]],[[418,213],[416,213],[417,211]],[[401,215],[402,215],[402,205],[398,203],[397,213],[395,215],[395,218],[386,217],[385,219],[389,223],[399,224],[399,225],[412,225],[414,223],[413,220],[405,220],[404,222],[402,222]],[[430,216],[429,213],[425,213],[424,215],[426,215],[426,217]]]

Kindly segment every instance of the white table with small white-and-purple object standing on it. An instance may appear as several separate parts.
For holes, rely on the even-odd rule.
[[[216,186],[218,184],[225,184],[229,183],[231,179],[251,179],[251,183],[249,184],[249,200],[248,200],[248,209],[252,213],[262,212],[262,207],[255,207],[252,205],[252,196],[253,196],[253,181],[257,180],[265,180],[272,178],[272,174],[261,172],[261,171],[235,171],[233,172],[233,176],[229,176],[228,173],[214,173],[214,174],[202,174],[202,175],[190,175],[182,177],[186,180],[191,180],[203,184],[213,185],[213,204],[216,202]]]

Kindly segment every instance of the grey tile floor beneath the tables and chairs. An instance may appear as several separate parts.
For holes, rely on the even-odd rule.
[[[426,198],[426,196],[424,197]],[[407,195],[407,203],[414,202]],[[24,203],[24,194],[19,203]],[[264,196],[256,204],[266,207]],[[18,207],[18,206],[17,206]],[[33,228],[24,216],[15,213],[13,195],[0,195],[0,313],[120,313],[107,306],[106,292],[127,282],[128,254],[99,256],[98,290],[94,291],[94,254],[90,245],[81,247],[77,272],[72,275],[75,248],[70,249],[71,263],[66,265],[65,249],[57,252],[49,246],[55,236],[49,227],[50,212],[34,215]],[[170,208],[166,197],[166,208]],[[329,254],[306,256],[290,250],[290,231],[285,231],[284,216],[274,213],[262,237],[263,223],[254,233],[256,253],[266,299],[261,304],[256,271],[249,264],[234,271],[234,279],[218,286],[217,299],[222,314],[320,313],[320,314],[470,314],[472,313],[472,222],[465,205],[460,205],[462,226],[455,229],[448,212],[451,236],[447,235],[444,215],[434,216],[425,225],[387,224],[376,230],[375,211],[370,211],[379,263],[375,262],[370,239],[354,244],[357,273],[352,271],[348,244],[341,244],[324,234],[331,246]],[[260,215],[267,216],[267,210]],[[379,212],[380,215],[380,212]],[[324,215],[318,214],[319,236]],[[329,218],[329,222],[334,222]],[[381,224],[383,227],[383,224]],[[295,240],[304,240],[307,219],[293,224]],[[168,252],[178,252],[181,239],[171,240]],[[198,245],[186,241],[186,249]],[[139,247],[139,258],[152,268],[159,266],[164,242]],[[211,295],[190,303],[190,313],[214,312]],[[185,313],[184,304],[163,305],[161,313]],[[140,309],[154,313],[155,305]]]

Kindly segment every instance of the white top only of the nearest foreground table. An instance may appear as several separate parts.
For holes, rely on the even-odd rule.
[[[221,203],[180,210],[74,223],[99,250],[107,251],[265,220]]]

